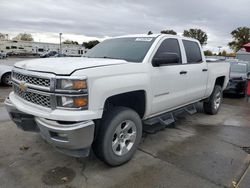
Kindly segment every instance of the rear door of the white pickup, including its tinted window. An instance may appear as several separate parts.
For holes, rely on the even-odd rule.
[[[196,41],[182,40],[185,53],[186,62],[186,95],[188,102],[199,100],[205,96],[208,68],[207,63],[202,57],[201,46]]]

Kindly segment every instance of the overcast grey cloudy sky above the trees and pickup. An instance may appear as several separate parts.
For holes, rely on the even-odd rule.
[[[31,33],[36,41],[78,42],[106,37],[201,28],[205,49],[228,50],[230,32],[250,26],[250,0],[0,0],[0,32]]]

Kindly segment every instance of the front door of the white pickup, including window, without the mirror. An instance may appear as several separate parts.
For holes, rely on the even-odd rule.
[[[168,38],[162,41],[154,58],[161,56],[162,53],[175,53],[178,56],[178,61],[152,68],[153,102],[151,114],[162,113],[188,101],[186,96],[186,71],[182,64],[179,40]]]

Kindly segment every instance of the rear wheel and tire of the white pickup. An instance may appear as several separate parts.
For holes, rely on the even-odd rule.
[[[208,101],[203,103],[203,109],[206,114],[215,115],[218,113],[222,103],[222,88],[219,85],[215,85],[211,96]]]

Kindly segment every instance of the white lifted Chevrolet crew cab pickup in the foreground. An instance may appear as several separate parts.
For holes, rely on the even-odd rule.
[[[207,63],[197,40],[131,35],[107,39],[86,57],[16,63],[5,104],[19,128],[57,150],[83,157],[92,147],[117,166],[134,155],[143,123],[199,101],[216,114],[228,77],[229,64]]]

